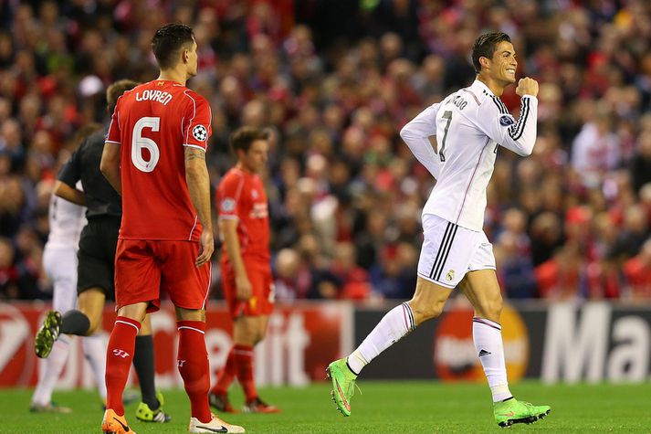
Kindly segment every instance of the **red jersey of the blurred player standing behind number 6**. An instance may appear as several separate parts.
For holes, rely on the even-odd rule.
[[[242,257],[269,260],[269,217],[262,179],[236,167],[222,178],[216,191],[219,218],[237,219]],[[223,248],[227,259],[226,244]]]

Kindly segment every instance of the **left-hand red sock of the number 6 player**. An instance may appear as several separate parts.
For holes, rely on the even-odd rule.
[[[106,351],[106,408],[124,416],[122,392],[127,384],[129,368],[133,360],[133,350],[136,344],[136,334],[140,331],[141,323],[125,316],[115,319],[113,331],[110,332],[109,345]]]

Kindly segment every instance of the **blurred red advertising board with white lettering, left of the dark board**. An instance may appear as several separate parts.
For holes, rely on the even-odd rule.
[[[0,387],[34,386],[39,359],[34,353],[34,334],[43,314],[44,302],[0,303]],[[260,385],[303,386],[325,377],[326,366],[352,347],[352,304],[347,302],[297,303],[278,305],[269,318],[265,341],[256,347],[256,378]],[[113,305],[103,316],[105,339],[115,319]],[[205,333],[211,379],[226,363],[232,345],[226,305],[208,306]],[[176,321],[173,306],[164,303],[152,315],[156,358],[156,386],[182,386],[176,369]],[[130,383],[134,381],[131,369]],[[80,339],[70,345],[68,364],[58,381],[60,388],[92,387],[89,365]]]

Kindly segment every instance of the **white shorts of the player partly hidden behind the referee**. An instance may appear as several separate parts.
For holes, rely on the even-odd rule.
[[[43,268],[52,281],[52,308],[68,312],[77,305],[77,249],[43,251]]]

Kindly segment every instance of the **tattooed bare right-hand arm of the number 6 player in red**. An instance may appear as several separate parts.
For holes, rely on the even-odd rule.
[[[106,149],[106,148],[105,148]],[[192,146],[185,147],[185,182],[190,192],[196,215],[204,227],[201,234],[201,251],[194,265],[201,267],[213,256],[213,221],[210,217],[210,178],[205,165],[205,151]],[[103,157],[102,157],[103,161]]]

